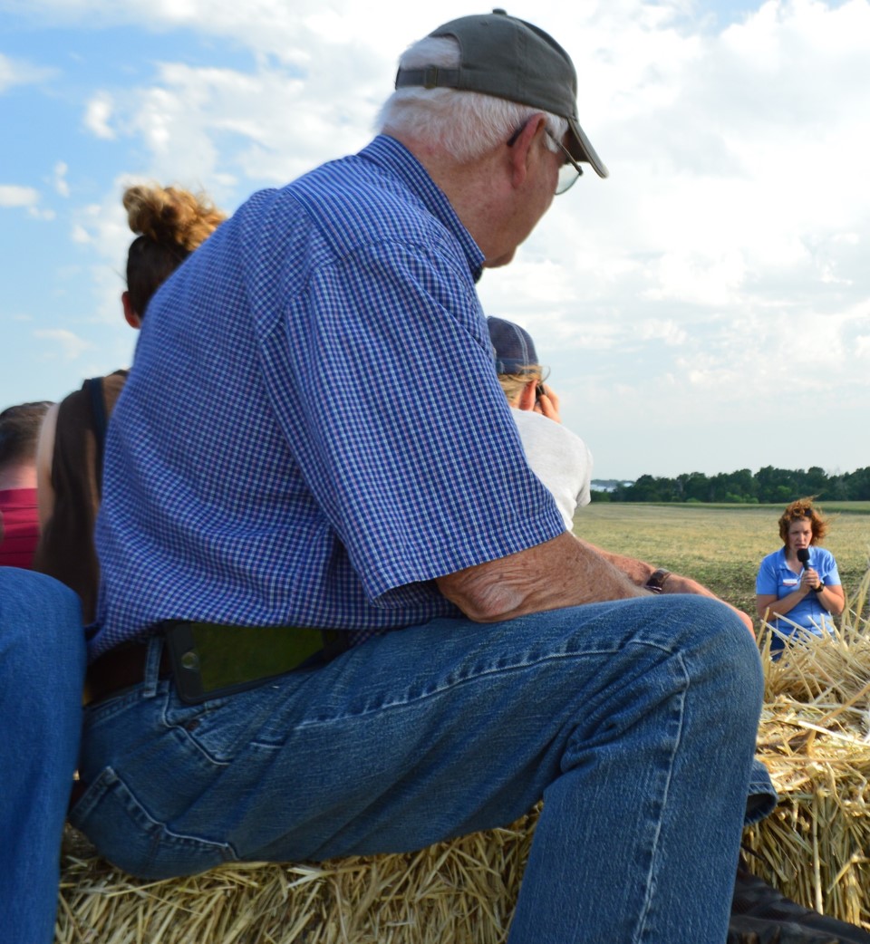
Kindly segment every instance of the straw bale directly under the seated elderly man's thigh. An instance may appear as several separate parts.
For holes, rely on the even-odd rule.
[[[537,811],[408,855],[138,882],[64,838],[56,944],[501,944]]]

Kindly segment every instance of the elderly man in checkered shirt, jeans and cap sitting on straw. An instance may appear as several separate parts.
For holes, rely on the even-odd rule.
[[[444,25],[382,134],[252,196],[153,299],[72,814],[119,866],[409,851],[543,797],[511,941],[725,940],[758,652],[565,531],[475,292],[581,163],[606,176],[575,96],[537,27]]]

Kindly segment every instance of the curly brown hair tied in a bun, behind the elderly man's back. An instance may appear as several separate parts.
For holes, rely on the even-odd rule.
[[[127,257],[127,290],[140,317],[151,295],[227,218],[205,194],[178,187],[128,187],[124,209],[129,228],[138,233]]]

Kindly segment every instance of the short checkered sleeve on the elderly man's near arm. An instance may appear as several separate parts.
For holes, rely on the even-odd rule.
[[[288,444],[370,599],[563,531],[523,461],[468,269],[437,244],[325,267],[272,341]]]

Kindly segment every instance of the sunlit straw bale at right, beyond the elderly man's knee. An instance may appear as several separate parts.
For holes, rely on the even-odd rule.
[[[777,662],[770,634],[758,753],[779,793],[746,831],[749,867],[795,901],[870,926],[870,571],[841,626]]]

